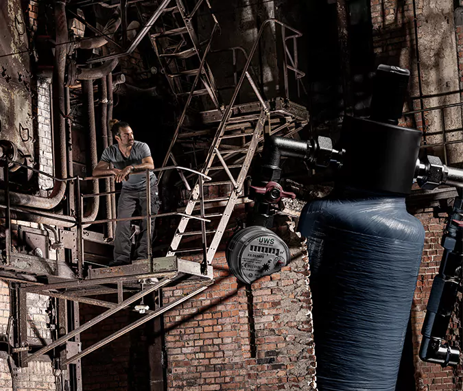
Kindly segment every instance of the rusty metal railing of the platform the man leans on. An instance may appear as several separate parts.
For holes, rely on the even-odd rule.
[[[5,209],[5,264],[10,264],[10,257],[11,257],[11,250],[12,250],[12,237],[11,237],[11,220],[12,220],[12,212],[19,213],[18,217],[14,220],[21,221],[21,214],[30,214],[36,215],[38,217],[45,217],[48,219],[56,220],[56,222],[65,223],[68,228],[72,228],[73,226],[77,227],[77,263],[78,263],[78,277],[80,279],[84,278],[84,226],[92,225],[92,224],[104,224],[107,222],[123,222],[128,220],[147,220],[147,259],[152,263],[152,232],[151,232],[151,220],[153,217],[166,217],[166,216],[180,216],[180,217],[189,217],[191,219],[199,220],[204,224],[205,222],[210,222],[210,220],[204,218],[204,215],[194,216],[194,215],[186,215],[185,213],[181,212],[167,212],[167,213],[158,213],[156,215],[152,214],[151,211],[151,172],[163,172],[170,169],[176,169],[180,171],[189,171],[192,174],[198,175],[202,181],[211,180],[211,177],[207,176],[206,174],[202,174],[200,171],[196,171],[195,169],[191,169],[188,167],[180,167],[176,165],[168,166],[168,167],[161,167],[156,169],[147,169],[143,170],[145,173],[146,178],[146,202],[147,202],[147,213],[143,216],[134,216],[134,217],[122,217],[122,218],[112,218],[112,219],[102,219],[102,220],[93,220],[93,221],[85,221],[84,220],[84,198],[95,198],[101,197],[108,194],[115,194],[119,193],[119,191],[106,191],[102,193],[89,193],[89,194],[82,194],[81,191],[81,182],[87,180],[99,180],[105,178],[112,178],[114,175],[108,176],[88,176],[86,178],[81,178],[80,176],[73,176],[69,178],[57,178],[54,175],[48,174],[44,171],[40,171],[33,167],[28,167],[22,163],[12,162],[8,157],[0,158],[0,161],[3,161],[3,176],[5,181],[5,205],[0,204],[0,209]],[[9,163],[14,163],[14,165],[19,165],[25,169],[34,171],[37,174],[46,176],[47,178],[51,178],[52,180],[56,180],[58,182],[71,182],[71,185],[74,186],[75,189],[75,198],[76,198],[76,217],[71,215],[56,215],[55,213],[47,213],[46,211],[36,211],[35,209],[27,209],[21,206],[12,206],[10,200],[10,172],[8,169]],[[141,175],[143,171],[136,171],[134,174],[131,175]],[[203,205],[204,206],[204,205]],[[27,219],[25,218],[27,221]],[[53,224],[51,222],[51,224]],[[62,225],[62,224],[57,224]],[[202,233],[203,241],[205,238],[205,233]],[[152,266],[152,265],[151,265]]]

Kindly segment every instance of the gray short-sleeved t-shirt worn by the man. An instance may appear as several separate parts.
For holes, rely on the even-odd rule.
[[[123,156],[121,150],[119,150],[119,145],[114,144],[110,147],[107,147],[103,151],[102,161],[106,163],[112,163],[117,169],[124,169],[129,165],[139,165],[143,158],[151,156],[150,147],[147,144],[141,143],[141,141],[135,141],[132,145],[132,150],[130,151],[130,156],[126,158]],[[156,175],[154,172],[150,173],[150,182],[154,185],[157,182]],[[139,174],[130,174],[128,180],[122,181],[123,189],[128,190],[142,190],[146,187],[146,174],[141,172]]]

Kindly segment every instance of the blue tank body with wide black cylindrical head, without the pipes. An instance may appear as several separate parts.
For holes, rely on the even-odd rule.
[[[425,239],[405,209],[420,138],[418,130],[346,117],[335,190],[300,215],[319,391],[396,388]]]

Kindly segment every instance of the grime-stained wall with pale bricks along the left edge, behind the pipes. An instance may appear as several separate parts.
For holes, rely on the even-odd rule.
[[[0,2],[0,139],[12,141],[29,162],[53,172],[51,157],[51,81],[40,80],[32,73],[32,38],[37,28],[36,1],[9,0]],[[25,9],[22,8],[25,5]],[[49,148],[47,147],[49,145]],[[41,154],[36,161],[36,152]],[[40,189],[52,183],[38,178]],[[47,195],[47,192],[41,193]],[[0,335],[8,338],[12,320],[10,289],[0,281]],[[51,342],[49,298],[27,295],[27,337],[31,346]],[[6,352],[0,352],[0,389],[56,390],[58,372],[48,356],[15,368]]]

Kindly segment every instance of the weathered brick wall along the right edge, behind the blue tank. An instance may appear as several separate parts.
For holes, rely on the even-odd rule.
[[[447,98],[432,97],[439,93],[447,91],[455,91],[458,88],[449,88],[449,86],[460,82],[463,79],[455,80],[453,73],[455,70],[450,68],[459,67],[460,74],[463,72],[463,54],[460,53],[463,47],[463,30],[458,23],[458,17],[455,18],[455,27],[453,27],[453,3],[447,0],[436,1],[434,5],[429,1],[417,0],[416,1],[416,16],[417,16],[417,30],[418,35],[415,37],[414,26],[414,10],[413,1],[396,1],[396,0],[371,0],[371,16],[373,26],[373,47],[376,56],[377,64],[385,63],[391,65],[399,65],[411,71],[411,78],[409,82],[409,99],[405,104],[405,111],[416,110],[420,108],[420,101],[418,97],[418,69],[416,67],[416,38],[418,38],[418,49],[421,62],[421,81],[423,82],[423,94],[429,95],[429,98],[423,99],[424,107],[438,106],[440,104],[449,104],[459,102],[455,95],[444,95]],[[439,12],[436,12],[439,10]],[[457,14],[457,13],[455,13]],[[458,15],[458,14],[457,14]],[[440,32],[436,32],[435,36],[431,36],[433,29],[439,29],[442,23]],[[453,28],[451,34],[456,34],[456,42],[454,37],[445,33],[447,38],[442,40],[440,34],[443,34],[444,29]],[[435,42],[441,42],[442,51],[435,52]],[[447,49],[444,49],[446,47]],[[453,51],[453,53],[452,53]],[[434,53],[434,54],[433,54]],[[453,65],[453,60],[457,58],[458,65]],[[439,64],[434,62],[433,58],[440,58]],[[457,64],[457,62],[455,62]],[[447,89],[449,88],[449,89]],[[412,99],[412,97],[414,97]],[[460,110],[458,108],[457,110]],[[459,118],[459,112],[449,111],[431,111],[425,112],[425,128],[424,130],[434,134],[442,130],[442,116],[447,123],[446,129],[458,128],[455,126],[455,119]],[[452,116],[453,119],[449,119]],[[403,119],[401,125],[418,128],[423,130],[423,117],[418,114],[409,116]],[[450,137],[453,139],[462,139],[461,132],[455,134],[451,133]],[[449,139],[449,137],[447,137]],[[441,142],[440,134],[436,136],[427,137],[428,143]],[[447,154],[458,155],[458,151],[453,149],[451,145],[447,147]],[[442,150],[429,150],[431,154],[438,154],[442,156]],[[458,162],[459,158],[453,159]],[[451,159],[452,161],[452,159]],[[416,369],[416,387],[420,391],[431,390],[461,390],[462,389],[462,376],[461,368],[452,370],[451,368],[442,369],[440,366],[423,363],[418,358],[418,349],[421,340],[421,327],[425,318],[425,310],[429,293],[431,291],[432,281],[434,276],[438,273],[440,259],[442,257],[442,248],[440,246],[440,239],[442,237],[442,228],[444,227],[444,218],[436,218],[433,215],[432,209],[420,211],[416,215],[423,223],[426,229],[425,250],[423,252],[423,260],[420,268],[420,275],[418,276],[418,284],[414,295],[414,302],[412,307],[412,331],[414,342],[414,366]],[[449,332],[449,339],[453,340],[454,344],[458,344],[458,335],[460,322],[458,322],[458,315],[453,317],[451,330]]]

